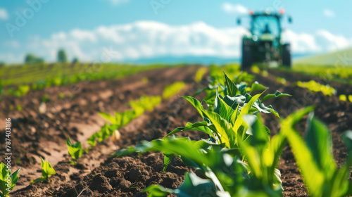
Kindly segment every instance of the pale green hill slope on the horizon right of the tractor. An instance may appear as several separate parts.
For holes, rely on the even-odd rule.
[[[345,49],[334,53],[296,58],[295,64],[310,65],[352,65],[352,49]]]

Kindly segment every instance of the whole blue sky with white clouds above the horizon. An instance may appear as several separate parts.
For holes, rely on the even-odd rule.
[[[284,8],[293,53],[352,47],[352,1],[27,0],[0,1],[0,61],[27,53],[56,61],[124,61],[160,56],[239,58],[249,10]],[[244,18],[237,25],[237,18]]]

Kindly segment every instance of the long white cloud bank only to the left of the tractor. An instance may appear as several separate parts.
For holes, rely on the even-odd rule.
[[[35,40],[44,51],[51,51],[50,61],[56,56],[53,51],[67,49],[83,61],[99,60],[96,49],[112,49],[118,56],[114,60],[148,58],[153,56],[224,56],[239,55],[244,27],[217,29],[203,22],[191,25],[171,26],[154,21],[139,21],[126,25],[100,26],[94,30],[75,29],[58,32],[49,39]],[[34,45],[34,44],[32,44]],[[101,50],[101,53],[103,51]]]

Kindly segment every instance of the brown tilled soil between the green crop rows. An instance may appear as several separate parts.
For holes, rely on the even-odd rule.
[[[166,85],[176,81],[188,84],[179,95],[192,95],[200,87],[206,86],[206,80],[196,83],[193,80],[198,67],[163,68],[150,70],[121,80],[101,80],[80,82],[76,86],[50,87],[42,91],[30,91],[22,98],[5,96],[0,103],[0,135],[4,135],[5,118],[11,117],[13,147],[12,165],[14,169],[22,167],[20,179],[11,196],[146,196],[142,189],[151,184],[161,184],[166,188],[177,188],[184,180],[184,173],[194,171],[184,166],[180,159],[174,158],[168,170],[163,173],[163,155],[161,153],[132,154],[122,158],[113,158],[110,153],[134,146],[142,140],[158,139],[176,127],[187,122],[201,121],[200,115],[182,98],[173,96],[164,99],[153,111],[147,111],[130,124],[120,129],[121,138],[117,143],[111,139],[103,141],[84,153],[76,165],[70,165],[65,140],[87,141],[87,138],[105,123],[98,112],[113,113],[128,109],[130,100],[142,95],[161,95]],[[282,75],[275,75],[283,77]],[[147,77],[148,83],[142,78]],[[309,76],[304,76],[309,77]],[[288,82],[299,80],[298,75],[285,75]],[[311,77],[313,79],[313,77]],[[341,166],[346,158],[346,147],[341,134],[352,129],[352,104],[339,101],[337,96],[325,96],[311,93],[307,89],[286,86],[275,81],[275,77],[256,76],[256,80],[267,87],[268,93],[276,90],[291,94],[292,97],[265,101],[278,110],[282,117],[303,108],[315,105],[315,116],[325,122],[332,131],[334,158]],[[348,85],[338,84],[341,89]],[[63,92],[65,98],[58,98]],[[44,113],[39,113],[40,100],[44,94],[51,101],[46,103]],[[202,99],[205,95],[196,96]],[[20,104],[23,110],[10,110],[10,106]],[[41,107],[42,107],[41,106]],[[43,112],[43,111],[42,111]],[[272,135],[279,131],[277,117],[262,115]],[[306,129],[305,120],[297,129]],[[302,132],[304,134],[304,132]],[[182,132],[180,135],[191,139],[208,138],[201,132]],[[87,148],[87,144],[83,144]],[[1,146],[0,153],[5,152]],[[49,182],[28,184],[40,177],[40,159],[49,160],[56,170]],[[284,148],[279,162],[282,173],[284,196],[308,196],[289,146]],[[351,177],[351,175],[350,175]]]

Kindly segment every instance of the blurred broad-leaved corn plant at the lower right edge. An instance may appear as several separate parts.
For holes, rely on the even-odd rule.
[[[352,196],[352,182],[348,181],[352,166],[352,131],[342,135],[347,149],[346,164],[338,168],[332,155],[332,136],[320,120],[308,116],[305,139],[294,129],[303,115],[313,108],[294,113],[282,122],[282,134],[287,137],[294,158],[310,196]]]

